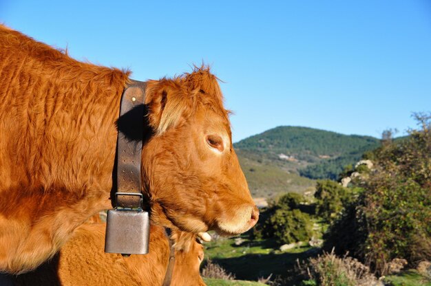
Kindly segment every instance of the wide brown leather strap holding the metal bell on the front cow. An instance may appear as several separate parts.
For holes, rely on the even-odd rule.
[[[140,160],[143,142],[144,100],[146,83],[132,80],[121,97],[117,121],[116,194],[117,208],[142,208]],[[114,201],[115,200],[115,201]]]

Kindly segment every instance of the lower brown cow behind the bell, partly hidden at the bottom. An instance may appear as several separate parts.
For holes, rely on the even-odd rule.
[[[132,255],[103,252],[105,223],[85,223],[78,227],[59,254],[33,272],[10,276],[15,286],[72,285],[162,285],[169,259],[165,230],[151,225],[151,252]],[[194,234],[176,231],[175,264],[171,285],[205,285],[199,274],[202,245]]]

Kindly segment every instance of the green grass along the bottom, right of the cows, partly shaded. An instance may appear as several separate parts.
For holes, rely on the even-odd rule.
[[[227,272],[240,281],[222,281],[205,278],[209,286],[222,285],[264,285],[257,283],[259,278],[288,276],[288,271],[299,261],[306,261],[317,255],[317,249],[310,246],[293,248],[287,252],[278,250],[271,239],[251,241],[242,236],[243,242],[235,245],[235,238],[216,239],[205,243],[205,257],[221,265]],[[253,282],[254,281],[254,282]],[[397,275],[387,276],[386,283],[393,286],[431,286],[431,281],[421,276],[416,270],[406,270]]]

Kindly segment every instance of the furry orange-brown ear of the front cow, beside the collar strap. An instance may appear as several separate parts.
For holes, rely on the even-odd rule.
[[[165,133],[180,121],[187,109],[181,89],[172,80],[149,80],[145,91],[148,121],[157,135]]]

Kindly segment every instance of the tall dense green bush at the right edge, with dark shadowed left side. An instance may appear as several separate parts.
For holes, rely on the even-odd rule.
[[[325,248],[349,251],[382,275],[393,259],[431,259],[431,116],[417,119],[421,131],[368,155],[376,164],[359,182],[364,190],[325,236]]]

